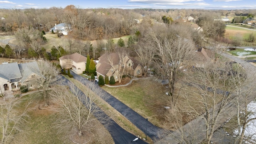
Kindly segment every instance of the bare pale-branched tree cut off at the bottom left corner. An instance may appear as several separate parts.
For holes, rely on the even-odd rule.
[[[15,98],[4,95],[0,98],[0,143],[6,144],[11,143],[14,136],[25,132],[24,124],[26,118],[28,118],[28,106],[27,103],[25,106],[22,98]],[[22,107],[21,107],[22,106]]]

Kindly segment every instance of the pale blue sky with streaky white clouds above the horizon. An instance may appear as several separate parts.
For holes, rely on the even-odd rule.
[[[256,9],[256,0],[0,0],[0,8],[50,8],[68,5],[80,8],[154,9]]]

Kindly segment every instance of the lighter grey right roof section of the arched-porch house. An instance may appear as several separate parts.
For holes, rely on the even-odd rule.
[[[20,72],[22,74],[22,79],[20,80],[21,83],[23,83],[33,73],[37,74],[38,76],[42,76],[37,62],[18,64],[18,66],[19,66]],[[44,77],[44,76],[42,76],[42,77]]]

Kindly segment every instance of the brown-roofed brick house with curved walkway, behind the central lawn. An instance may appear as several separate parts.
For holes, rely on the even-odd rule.
[[[124,68],[124,74],[131,76],[142,76],[143,68],[136,59],[130,56],[124,56],[122,62],[120,60],[118,53],[103,54],[98,58],[98,63],[96,64],[96,73],[97,78],[101,75],[105,76],[114,76],[115,81],[118,81],[119,67]],[[113,62],[114,67],[110,65],[109,60]],[[123,70],[123,69],[122,69]]]

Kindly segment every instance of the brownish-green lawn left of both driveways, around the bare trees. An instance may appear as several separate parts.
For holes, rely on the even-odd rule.
[[[33,97],[35,95],[30,94],[22,98],[28,102]],[[12,144],[74,144],[68,132],[58,133],[54,127],[54,122],[59,119],[58,113],[52,110],[54,105],[42,110],[38,107],[37,102],[30,105],[31,110],[28,112],[30,118],[27,119],[25,126],[26,134],[16,135]],[[92,133],[92,139],[88,144],[114,144],[112,137],[102,124],[98,123]]]

